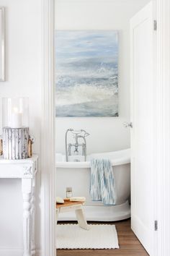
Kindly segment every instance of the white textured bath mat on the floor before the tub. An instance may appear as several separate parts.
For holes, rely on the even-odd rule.
[[[57,249],[119,248],[115,225],[89,225],[89,230],[77,224],[61,224],[56,229]]]

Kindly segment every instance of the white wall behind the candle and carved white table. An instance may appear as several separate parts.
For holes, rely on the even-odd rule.
[[[1,6],[6,7],[6,82],[0,82],[0,100],[3,97],[30,98],[30,133],[35,135],[33,150],[40,153],[41,0],[1,0]],[[40,174],[37,200],[39,194]],[[0,180],[0,202],[0,255],[20,256],[22,194],[19,180]],[[37,248],[40,247],[39,204],[38,201]]]

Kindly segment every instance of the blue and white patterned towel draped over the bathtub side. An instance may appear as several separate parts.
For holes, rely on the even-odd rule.
[[[115,180],[108,159],[91,160],[90,196],[104,205],[115,205]]]

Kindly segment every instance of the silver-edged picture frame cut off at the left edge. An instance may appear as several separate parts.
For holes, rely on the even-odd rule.
[[[5,80],[4,68],[4,7],[0,7],[0,81]]]

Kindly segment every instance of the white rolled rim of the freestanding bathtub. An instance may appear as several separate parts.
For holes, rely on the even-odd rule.
[[[107,153],[124,153],[122,157],[117,157],[117,159],[111,160],[112,166],[120,166],[123,164],[130,163],[130,148],[125,150],[117,150],[113,152],[107,152]],[[105,154],[105,153],[104,153]],[[91,154],[93,155],[93,154]],[[96,155],[96,154],[95,154]],[[102,153],[99,153],[99,155],[102,155]],[[90,161],[82,161],[82,162],[66,162],[66,161],[55,161],[55,167],[56,168],[90,168]]]

